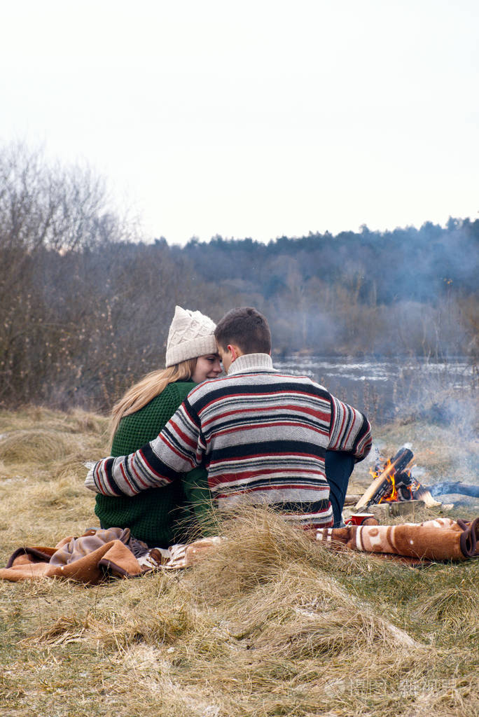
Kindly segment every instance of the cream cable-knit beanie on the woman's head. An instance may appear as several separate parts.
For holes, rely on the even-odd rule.
[[[196,356],[217,353],[215,328],[216,324],[201,311],[176,306],[166,343],[166,368]]]

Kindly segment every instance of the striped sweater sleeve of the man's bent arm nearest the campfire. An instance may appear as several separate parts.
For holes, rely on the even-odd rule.
[[[371,426],[366,416],[331,396],[328,450],[348,451],[359,462],[368,455],[371,444]]]

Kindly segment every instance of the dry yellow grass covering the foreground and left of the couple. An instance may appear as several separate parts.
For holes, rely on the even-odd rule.
[[[3,564],[22,543],[52,545],[96,524],[82,461],[104,454],[104,429],[93,414],[0,412]],[[404,436],[398,423],[380,438],[394,449],[413,430]],[[425,428],[414,441],[427,456]],[[434,460],[432,470],[443,455]],[[223,532],[183,573],[95,588],[1,583],[2,713],[478,712],[479,561],[413,570],[336,555],[264,511],[225,521]]]

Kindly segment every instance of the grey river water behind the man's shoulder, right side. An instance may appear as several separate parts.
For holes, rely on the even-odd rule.
[[[478,368],[466,356],[447,361],[417,356],[283,356],[274,364],[285,373],[310,376],[376,422],[440,403],[445,389],[467,396],[478,386]]]

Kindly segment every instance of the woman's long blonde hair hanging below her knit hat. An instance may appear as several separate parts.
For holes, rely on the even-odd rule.
[[[187,359],[186,361],[181,361],[180,364],[169,366],[168,369],[151,371],[151,374],[146,374],[143,379],[133,384],[111,410],[110,443],[113,441],[113,436],[118,429],[120,420],[124,416],[129,416],[146,406],[147,403],[161,394],[161,391],[164,391],[168,384],[172,384],[174,381],[191,379],[194,369],[196,369],[196,360],[196,358]]]

